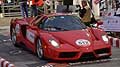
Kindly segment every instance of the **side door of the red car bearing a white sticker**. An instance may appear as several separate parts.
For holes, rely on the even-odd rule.
[[[39,36],[39,30],[40,27],[37,25],[42,22],[44,17],[41,17],[34,21],[33,24],[29,25],[26,29],[26,40],[27,40],[27,47],[30,48],[30,50],[34,50],[36,47],[36,38]]]

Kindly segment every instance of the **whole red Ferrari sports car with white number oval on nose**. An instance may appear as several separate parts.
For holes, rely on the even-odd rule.
[[[106,33],[85,26],[79,17],[72,14],[12,19],[10,33],[14,46],[24,45],[39,58],[78,60],[111,56]]]

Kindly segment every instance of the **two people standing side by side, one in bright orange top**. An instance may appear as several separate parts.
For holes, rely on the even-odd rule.
[[[42,7],[44,2],[43,0],[19,0],[21,14],[24,18],[28,17],[28,6],[30,6],[31,17],[35,17],[38,14],[37,7]]]

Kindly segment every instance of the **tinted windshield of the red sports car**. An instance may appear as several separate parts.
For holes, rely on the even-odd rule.
[[[85,29],[86,26],[77,16],[61,15],[49,17],[43,28],[49,31],[68,31]]]

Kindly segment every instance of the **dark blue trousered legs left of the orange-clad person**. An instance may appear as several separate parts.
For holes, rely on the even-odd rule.
[[[27,0],[19,0],[20,10],[24,18],[28,17]]]

